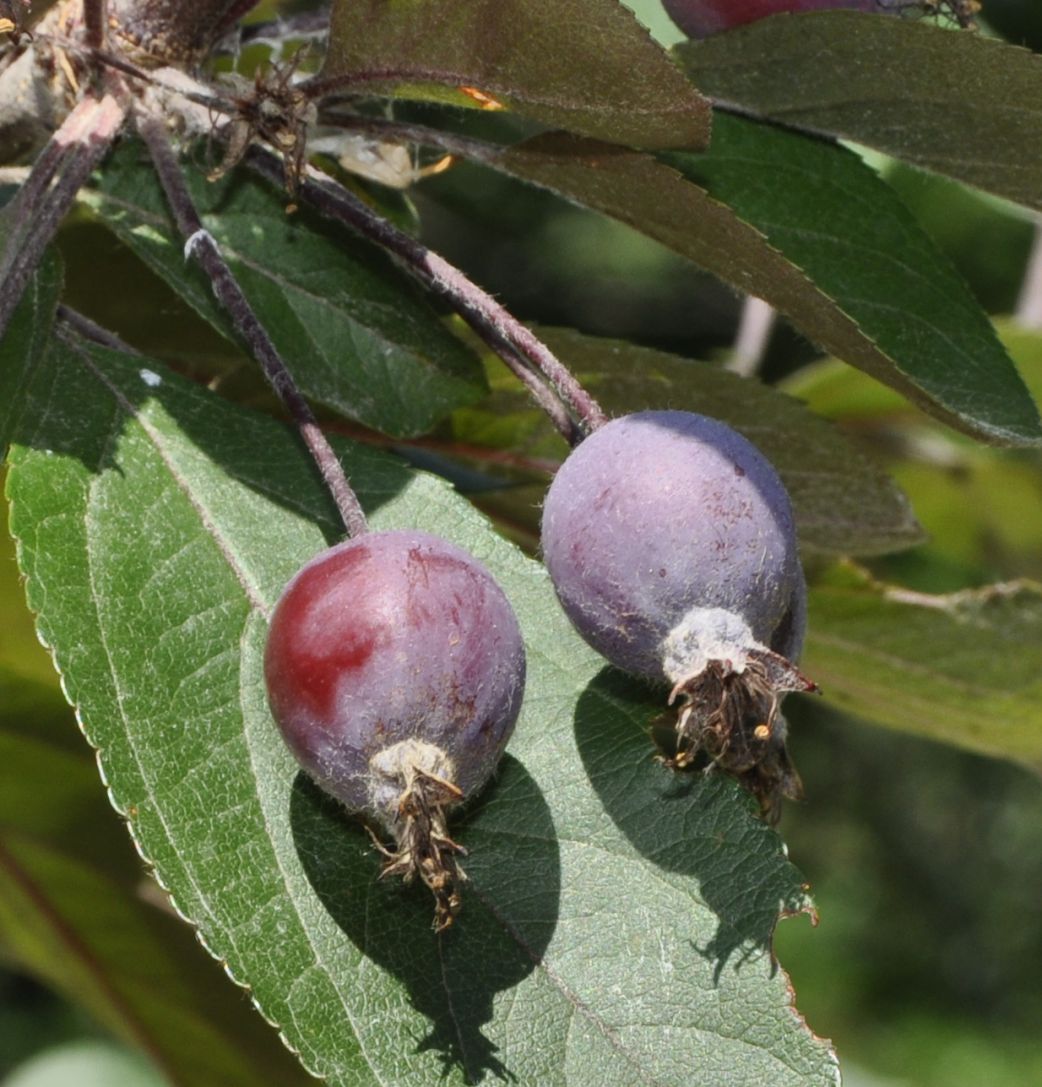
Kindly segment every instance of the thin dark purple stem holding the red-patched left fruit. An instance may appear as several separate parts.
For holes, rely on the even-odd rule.
[[[348,483],[343,466],[326,436],[322,433],[311,405],[301,395],[292,374],[247,301],[246,295],[222,255],[217,242],[203,227],[199,212],[196,210],[188,191],[188,186],[178,167],[165,125],[156,117],[141,114],[136,117],[136,122],[137,129],[152,157],[155,172],[174,213],[177,228],[186,240],[186,259],[193,255],[202,265],[217,300],[231,318],[236,332],[246,341],[250,353],[261,363],[265,376],[292,416],[304,445],[314,459],[334,502],[336,502],[348,535],[361,536],[367,532],[368,526],[357,497],[351,488],[351,484]]]

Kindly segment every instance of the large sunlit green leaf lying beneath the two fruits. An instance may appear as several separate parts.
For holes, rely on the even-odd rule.
[[[570,629],[544,571],[442,482],[340,446],[376,529],[468,548],[525,633],[525,709],[454,834],[463,912],[377,879],[265,704],[266,617],[336,536],[293,435],[140,359],[55,341],[12,449],[12,528],[116,809],[177,909],[331,1084],[837,1082],[770,954],[801,877],[750,798],[676,777],[657,697]],[[149,370],[161,373],[158,364]],[[45,410],[46,409],[46,410]]]

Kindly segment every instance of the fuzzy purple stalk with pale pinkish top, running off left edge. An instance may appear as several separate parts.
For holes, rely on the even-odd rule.
[[[125,107],[111,95],[85,98],[51,137],[17,196],[4,209],[0,220],[0,233],[5,235],[0,253],[0,335],[65,212],[125,116]]]

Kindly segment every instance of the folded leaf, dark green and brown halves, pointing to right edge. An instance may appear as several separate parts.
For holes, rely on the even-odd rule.
[[[554,136],[482,161],[766,299],[951,426],[997,443],[1042,440],[1038,408],[980,305],[856,155],[719,116],[707,153],[662,158]]]

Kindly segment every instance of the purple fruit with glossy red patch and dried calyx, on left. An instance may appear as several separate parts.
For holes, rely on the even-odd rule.
[[[520,630],[491,574],[425,533],[339,544],[279,598],[264,675],[297,760],[393,836],[384,874],[418,875],[447,927],[464,876],[444,813],[491,776],[525,687]]]

